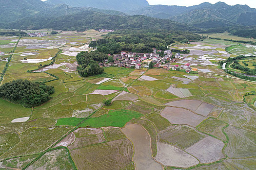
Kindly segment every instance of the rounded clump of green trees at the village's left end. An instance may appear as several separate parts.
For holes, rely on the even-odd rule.
[[[97,62],[102,62],[108,58],[107,54],[92,51],[92,52],[80,52],[77,55],[77,61],[79,64],[78,72],[82,77],[88,77],[98,75],[104,72],[104,68],[101,68]]]

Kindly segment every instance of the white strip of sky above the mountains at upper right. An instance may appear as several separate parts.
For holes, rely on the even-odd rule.
[[[246,4],[251,8],[256,8],[256,0],[147,0],[150,5],[163,4],[163,5],[179,5],[179,6],[192,6],[198,5],[205,1],[216,3],[218,1],[225,2],[229,5]]]

